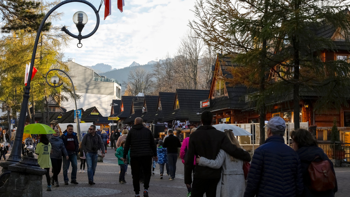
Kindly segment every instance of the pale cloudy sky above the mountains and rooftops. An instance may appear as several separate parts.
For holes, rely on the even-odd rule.
[[[100,0],[90,1],[97,9]],[[180,37],[189,29],[188,21],[194,19],[195,0],[125,0],[121,13],[117,0],[112,0],[112,14],[104,18],[104,5],[100,9],[100,26],[90,38],[82,40],[83,47],[77,48],[78,40],[71,41],[63,49],[66,58],[84,66],[105,63],[112,68],[124,68],[133,61],[147,64],[161,59],[167,52],[173,55],[180,43]],[[89,34],[96,25],[96,15],[83,3],[68,3],[57,9],[64,12],[61,21],[73,34],[78,34],[72,16],[77,11],[88,15],[88,22],[82,34]]]

